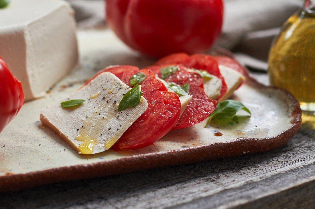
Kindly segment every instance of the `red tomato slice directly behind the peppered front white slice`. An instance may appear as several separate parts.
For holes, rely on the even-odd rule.
[[[148,101],[147,110],[113,145],[114,149],[139,149],[149,146],[175,127],[180,115],[180,100],[177,94],[154,90],[146,94],[145,98]]]

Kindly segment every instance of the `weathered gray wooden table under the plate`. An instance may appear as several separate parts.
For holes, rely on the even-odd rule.
[[[0,194],[0,208],[314,208],[315,116],[302,120],[269,152]]]

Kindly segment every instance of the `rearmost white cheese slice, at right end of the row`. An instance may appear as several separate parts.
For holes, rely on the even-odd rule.
[[[236,70],[226,67],[224,65],[219,65],[220,72],[225,80],[227,91],[226,94],[224,94],[223,97],[219,99],[219,102],[228,99],[230,96],[232,96],[233,92],[238,88],[238,86],[241,84],[243,80],[245,80],[245,77],[237,72]]]

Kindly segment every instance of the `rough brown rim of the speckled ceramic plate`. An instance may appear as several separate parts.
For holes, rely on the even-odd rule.
[[[230,51],[216,47],[213,54],[234,58]],[[244,67],[248,81],[259,88],[277,87],[258,83],[249,70]],[[284,145],[301,127],[301,109],[298,101],[286,90],[280,89],[294,105],[292,126],[282,133],[266,138],[241,137],[228,142],[212,143],[196,147],[147,153],[129,156],[109,162],[81,164],[47,169],[25,174],[10,174],[0,177],[0,192],[9,192],[51,184],[55,182],[88,179],[115,174],[123,174],[164,166],[196,163],[206,160],[235,157],[274,149]],[[246,149],[244,149],[246,147]],[[132,166],[130,166],[132,165]]]

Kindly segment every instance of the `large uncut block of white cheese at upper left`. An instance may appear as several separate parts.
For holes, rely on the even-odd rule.
[[[0,9],[0,56],[25,99],[45,92],[78,63],[73,10],[60,0],[13,0]]]

